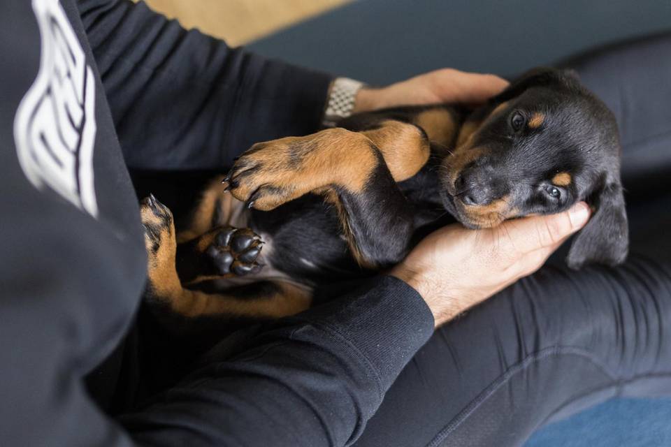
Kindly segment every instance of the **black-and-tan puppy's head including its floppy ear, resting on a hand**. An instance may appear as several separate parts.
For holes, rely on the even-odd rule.
[[[593,215],[568,265],[621,263],[628,225],[612,113],[570,72],[522,75],[463,124],[442,161],[442,200],[465,226],[487,228],[586,200]]]

